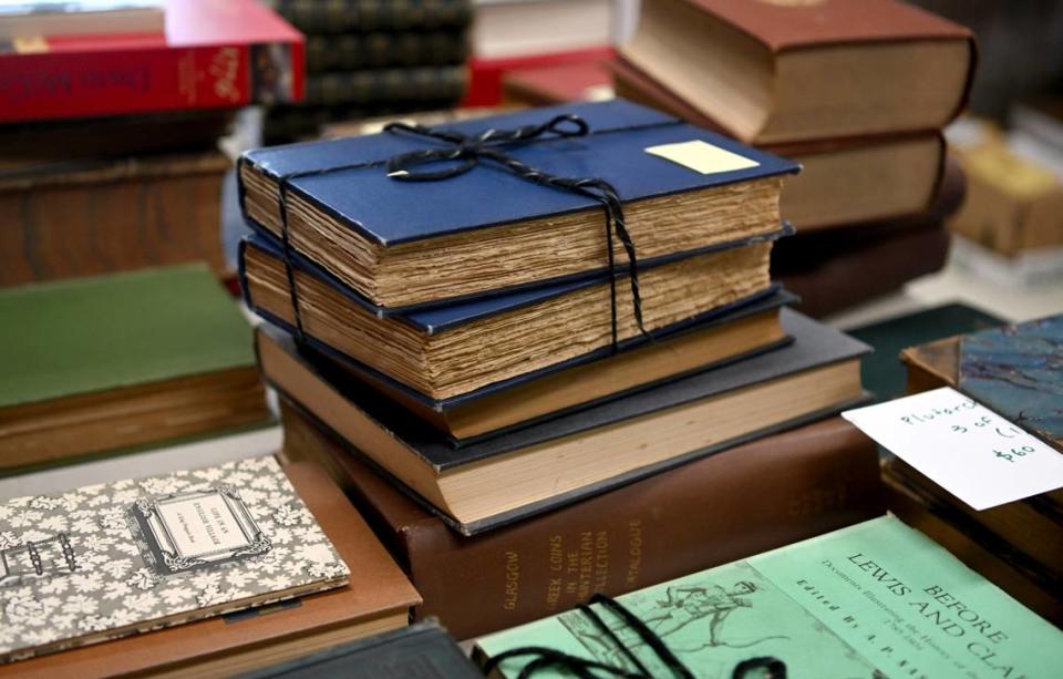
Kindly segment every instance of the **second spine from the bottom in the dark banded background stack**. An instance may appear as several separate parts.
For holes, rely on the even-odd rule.
[[[465,92],[464,66],[422,66],[319,73],[307,79],[309,105],[456,102]]]

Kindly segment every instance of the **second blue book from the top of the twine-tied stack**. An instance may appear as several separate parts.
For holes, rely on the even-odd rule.
[[[613,305],[605,274],[380,318],[360,295],[299,255],[290,260],[292,296],[282,248],[269,238],[246,239],[239,260],[251,310],[293,332],[301,323],[308,343],[364,367],[410,399],[440,410],[440,403],[508,389],[545,372],[623,352],[646,344],[650,337],[663,338],[772,297],[777,288],[768,275],[771,246],[785,233],[642,267],[648,335],[636,322],[627,281],[618,281]],[[784,301],[776,297],[772,306]],[[698,356],[713,363],[782,340],[777,318],[766,322],[758,335],[735,338],[730,353]],[[694,369],[689,359],[675,359],[680,368],[671,374]],[[668,374],[658,370],[657,379]],[[647,371],[643,381],[653,381],[653,370]],[[537,414],[541,413],[528,416]]]

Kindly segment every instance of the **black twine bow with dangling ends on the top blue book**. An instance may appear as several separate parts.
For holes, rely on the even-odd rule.
[[[554,134],[557,137],[586,136],[590,133],[587,121],[578,115],[556,115],[539,125],[525,125],[515,130],[487,130],[475,136],[450,130],[435,130],[424,125],[407,123],[389,123],[385,132],[405,132],[425,136],[447,145],[437,148],[424,148],[399,154],[388,161],[388,176],[400,182],[437,182],[450,179],[473,169],[481,161],[489,161],[512,172],[516,176],[569,193],[580,194],[601,204],[606,213],[606,249],[609,259],[609,299],[612,318],[612,348],[617,350],[619,338],[617,331],[617,271],[612,253],[613,233],[620,239],[628,256],[628,278],[631,284],[631,301],[634,310],[634,322],[648,339],[652,339],[642,322],[642,296],[639,291],[639,267],[634,253],[634,241],[628,232],[628,224],[623,216],[623,204],[617,189],[609,182],[600,178],[570,178],[559,177],[541,169],[522,163],[507,154],[506,145],[524,144],[544,134]],[[414,167],[432,163],[451,163],[443,169],[414,171]]]

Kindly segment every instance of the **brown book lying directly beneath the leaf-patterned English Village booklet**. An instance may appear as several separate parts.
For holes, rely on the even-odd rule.
[[[285,470],[350,568],[350,585],[293,601],[0,666],[0,677],[228,677],[404,627],[416,590],[321,467]]]

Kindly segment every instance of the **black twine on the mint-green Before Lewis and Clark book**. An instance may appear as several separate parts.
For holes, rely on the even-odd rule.
[[[489,676],[493,670],[510,658],[533,656],[534,659],[520,669],[517,679],[528,679],[528,677],[532,677],[536,672],[548,669],[564,669],[580,679],[599,679],[601,673],[620,677],[621,679],[661,679],[660,677],[654,678],[634,651],[628,648],[623,641],[620,640],[620,637],[617,636],[617,632],[590,607],[594,604],[600,604],[602,607],[608,608],[619,617],[627,627],[633,629],[641,642],[648,646],[664,663],[673,679],[694,678],[694,675],[687,669],[675,654],[664,645],[661,638],[657,636],[646,623],[628,610],[620,601],[603,594],[594,595],[588,604],[580,604],[577,608],[587,616],[598,630],[608,637],[615,648],[623,654],[625,658],[636,667],[634,671],[618,665],[609,665],[598,660],[572,656],[544,646],[520,646],[492,656],[484,665],[484,673]],[[766,669],[770,679],[786,679],[786,665],[782,660],[770,656],[750,658],[739,662],[732,671],[732,679],[742,679],[746,672],[753,669]]]

